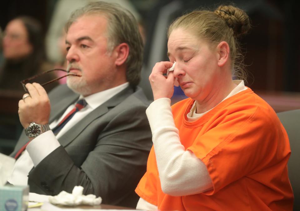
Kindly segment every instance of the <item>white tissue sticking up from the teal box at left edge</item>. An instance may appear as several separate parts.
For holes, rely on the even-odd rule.
[[[15,158],[0,153],[0,186],[5,185],[12,175],[15,162]]]

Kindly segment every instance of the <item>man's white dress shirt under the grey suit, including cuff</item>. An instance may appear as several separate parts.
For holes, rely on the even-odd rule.
[[[17,159],[14,165],[12,176],[8,179],[8,182],[13,185],[27,185],[28,173],[33,167],[37,166],[38,163],[40,163],[45,157],[47,157],[47,155],[49,155],[60,146],[60,143],[57,140],[59,137],[66,133],[70,128],[78,123],[78,121],[83,119],[95,108],[99,107],[104,102],[106,102],[128,86],[129,83],[126,82],[117,87],[85,97],[84,99],[87,102],[86,107],[75,113],[74,116],[68,121],[68,123],[66,123],[66,125],[59,131],[56,136],[54,135],[52,130],[49,130],[34,138],[27,145],[22,155]],[[83,96],[80,95],[78,99],[81,98],[83,98]],[[60,118],[54,120],[50,124],[50,128],[52,129],[57,126],[58,123],[65,117],[65,115],[74,108],[75,104],[76,103],[70,105]]]

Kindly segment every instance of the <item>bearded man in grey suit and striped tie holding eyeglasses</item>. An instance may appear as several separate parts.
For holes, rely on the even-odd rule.
[[[68,71],[81,77],[68,76],[68,87],[49,96],[38,83],[26,84],[30,95],[19,102],[25,132],[12,153],[17,161],[8,182],[47,195],[81,185],[103,203],[135,207],[134,189],[152,145],[148,100],[137,87],[138,25],[118,5],[99,2],[75,11],[66,31]]]

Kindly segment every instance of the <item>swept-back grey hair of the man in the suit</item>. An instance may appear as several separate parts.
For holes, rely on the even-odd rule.
[[[133,15],[125,8],[115,3],[94,2],[83,8],[75,10],[65,30],[68,32],[70,26],[84,15],[104,15],[108,19],[107,39],[108,51],[112,51],[121,43],[129,45],[129,55],[126,60],[126,78],[132,87],[136,87],[141,79],[143,64],[143,41],[138,30],[138,23]]]

